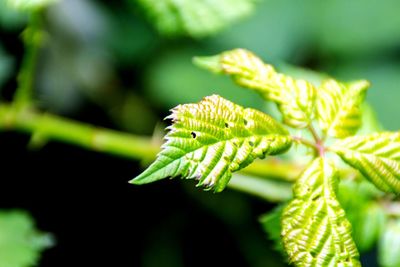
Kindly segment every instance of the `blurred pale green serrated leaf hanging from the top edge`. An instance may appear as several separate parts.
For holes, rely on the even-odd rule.
[[[202,38],[252,13],[254,0],[137,0],[167,36]]]

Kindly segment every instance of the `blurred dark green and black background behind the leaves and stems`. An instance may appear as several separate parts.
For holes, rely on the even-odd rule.
[[[196,2],[195,0],[193,0]],[[218,2],[218,0],[216,0]],[[165,35],[135,0],[64,0],[44,12],[46,43],[35,102],[47,112],[138,135],[159,134],[179,103],[213,93],[265,109],[252,92],[192,64],[193,56],[242,47],[265,61],[368,79],[383,127],[400,128],[400,2],[259,0],[210,36]],[[216,12],[215,16],[221,16]],[[26,16],[0,0],[0,93],[11,100]],[[127,182],[140,162],[29,136],[0,134],[0,208],[27,210],[56,245],[39,266],[286,266],[258,223],[274,207],[194,183]],[[375,252],[364,266],[377,266]]]

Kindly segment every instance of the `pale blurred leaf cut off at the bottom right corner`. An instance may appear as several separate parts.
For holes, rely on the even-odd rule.
[[[385,227],[378,245],[378,260],[382,267],[400,266],[400,219],[391,220]]]

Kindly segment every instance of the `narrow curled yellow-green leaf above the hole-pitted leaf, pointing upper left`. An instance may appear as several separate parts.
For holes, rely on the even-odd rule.
[[[302,79],[293,79],[276,70],[253,53],[234,49],[212,57],[195,58],[195,63],[216,73],[231,75],[233,80],[261,94],[278,105],[285,124],[307,127],[314,110],[314,86]]]

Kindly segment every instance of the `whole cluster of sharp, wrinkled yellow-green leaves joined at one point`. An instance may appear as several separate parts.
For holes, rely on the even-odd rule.
[[[244,49],[198,57],[195,63],[276,103],[283,123],[308,131],[313,140],[290,136],[270,116],[213,95],[172,110],[162,151],[132,183],[181,176],[219,192],[233,172],[254,159],[283,153],[293,142],[305,145],[315,158],[295,183],[293,200],[281,218],[289,261],[299,267],[361,266],[351,224],[337,199],[342,177],[327,153],[339,155],[380,190],[400,193],[399,133],[354,136],[362,124],[361,104],[369,83],[329,78],[312,84],[277,72]],[[340,140],[327,146],[328,138]]]

